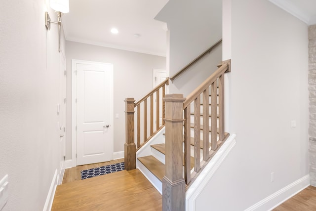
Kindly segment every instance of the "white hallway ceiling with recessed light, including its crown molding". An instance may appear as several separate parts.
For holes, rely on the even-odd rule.
[[[165,56],[167,27],[154,18],[167,2],[70,0],[62,17],[66,40]]]

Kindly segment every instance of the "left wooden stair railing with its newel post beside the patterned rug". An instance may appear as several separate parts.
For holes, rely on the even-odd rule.
[[[162,99],[165,97],[168,84],[169,78],[166,78],[136,103],[134,98],[125,99],[124,162],[126,170],[136,169],[136,151],[165,125],[163,120],[165,102]]]

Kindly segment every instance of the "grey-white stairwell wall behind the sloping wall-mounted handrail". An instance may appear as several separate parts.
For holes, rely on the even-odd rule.
[[[167,69],[170,76],[222,38],[222,0],[169,0],[155,19],[167,22]],[[222,61],[222,46],[193,65],[169,85],[169,93],[187,96]]]

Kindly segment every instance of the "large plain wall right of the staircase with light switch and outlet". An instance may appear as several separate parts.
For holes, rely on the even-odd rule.
[[[237,145],[197,199],[198,211],[242,211],[309,174],[307,25],[267,0],[225,0],[224,14],[230,3],[228,132]]]

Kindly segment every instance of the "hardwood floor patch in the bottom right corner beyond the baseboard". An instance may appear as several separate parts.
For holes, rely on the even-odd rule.
[[[273,211],[316,211],[316,187],[305,188]]]

